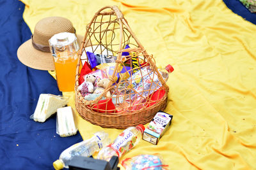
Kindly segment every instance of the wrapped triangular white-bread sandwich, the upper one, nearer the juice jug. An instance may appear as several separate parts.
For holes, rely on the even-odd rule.
[[[58,108],[62,108],[68,103],[68,100],[61,96],[53,94],[40,94],[33,119],[36,122],[45,122],[45,120],[54,113]]]

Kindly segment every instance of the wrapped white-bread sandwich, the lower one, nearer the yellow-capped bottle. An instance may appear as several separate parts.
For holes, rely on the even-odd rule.
[[[74,120],[74,112],[70,106],[58,108],[56,133],[61,137],[72,136],[77,133],[77,127]]]

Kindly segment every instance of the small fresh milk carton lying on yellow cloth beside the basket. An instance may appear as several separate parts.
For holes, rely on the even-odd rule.
[[[148,127],[143,132],[143,140],[157,145],[159,139],[172,123],[173,115],[158,111]]]

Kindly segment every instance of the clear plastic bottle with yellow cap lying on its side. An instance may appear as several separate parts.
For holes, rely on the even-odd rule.
[[[74,156],[90,157],[110,142],[111,139],[108,138],[106,132],[96,132],[92,138],[76,143],[64,150],[60,154],[60,158],[53,162],[53,167],[55,169],[68,168],[68,164]]]

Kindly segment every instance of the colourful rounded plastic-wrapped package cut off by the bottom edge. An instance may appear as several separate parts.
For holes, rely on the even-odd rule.
[[[126,170],[164,170],[168,165],[157,155],[137,155],[121,162]]]

